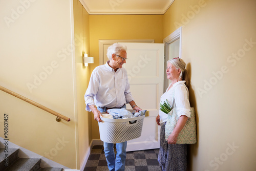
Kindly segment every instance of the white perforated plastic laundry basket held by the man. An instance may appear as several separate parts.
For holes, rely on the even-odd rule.
[[[98,122],[100,140],[108,143],[120,143],[139,138],[141,136],[144,117],[145,115],[127,119],[101,117],[100,119],[103,120],[104,123]],[[129,122],[134,120],[136,120],[136,122]]]

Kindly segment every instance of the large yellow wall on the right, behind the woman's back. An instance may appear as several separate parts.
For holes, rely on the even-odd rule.
[[[164,15],[164,37],[183,26],[182,58],[198,126],[190,170],[256,169],[255,6],[249,0],[180,0]]]

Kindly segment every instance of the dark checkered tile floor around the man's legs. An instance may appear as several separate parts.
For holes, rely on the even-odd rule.
[[[115,149],[115,148],[114,148]],[[157,161],[159,149],[148,149],[135,152],[127,152],[125,171],[161,171]],[[83,171],[107,171],[103,145],[95,145]]]

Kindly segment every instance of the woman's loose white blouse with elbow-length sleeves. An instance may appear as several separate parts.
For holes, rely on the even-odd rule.
[[[160,104],[161,102],[166,101],[167,99],[170,106],[172,106],[173,99],[175,98],[177,115],[179,117],[181,115],[185,115],[190,118],[190,103],[188,99],[188,90],[187,90],[187,87],[185,86],[185,82],[186,81],[176,82],[173,85],[173,87],[169,89],[169,91],[167,91],[168,90],[167,88],[166,92],[161,96]],[[159,116],[160,116],[160,125],[162,126],[164,122],[167,121],[167,114],[159,110]]]

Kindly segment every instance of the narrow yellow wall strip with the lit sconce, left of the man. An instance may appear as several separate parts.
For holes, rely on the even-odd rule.
[[[78,112],[78,140],[80,166],[90,148],[92,141],[91,115],[87,112],[83,95],[86,92],[90,79],[90,66],[84,67],[82,54],[90,55],[89,48],[89,14],[78,0],[74,1],[74,32],[75,32],[75,58],[76,58],[76,88]],[[81,40],[81,41],[80,41]]]

